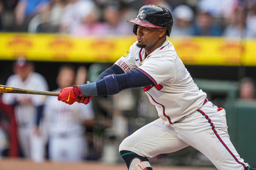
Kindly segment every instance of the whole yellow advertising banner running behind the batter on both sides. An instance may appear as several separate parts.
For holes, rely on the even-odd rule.
[[[256,66],[256,40],[169,38],[185,64]],[[74,37],[66,34],[0,33],[0,60],[114,63],[136,36]]]

